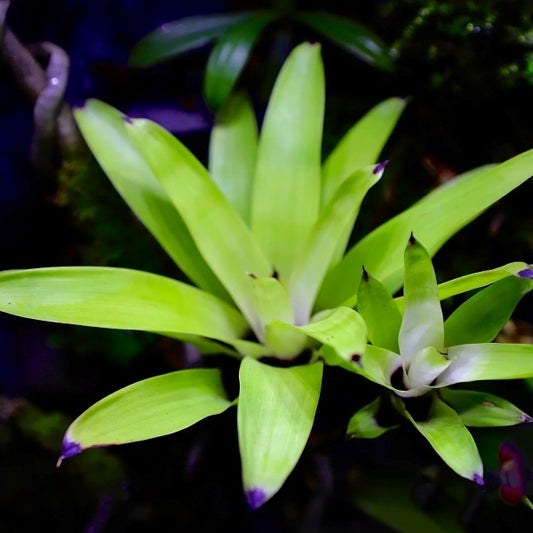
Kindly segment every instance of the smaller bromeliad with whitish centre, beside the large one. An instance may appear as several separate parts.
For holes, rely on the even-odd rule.
[[[514,275],[476,293],[444,321],[439,300],[455,292],[456,282],[437,286],[429,254],[411,235],[405,250],[403,299],[394,300],[363,269],[357,309],[367,324],[370,344],[354,361],[339,361],[389,389],[392,405],[442,459],[481,485],[481,458],[465,426],[510,426],[533,418],[494,395],[447,387],[533,374],[533,345],[491,343],[520,299],[533,289],[533,270],[515,266],[521,270],[513,268]],[[485,273],[475,276],[479,275]],[[334,364],[336,355],[328,351],[328,356]],[[377,398],[355,413],[348,434],[375,438],[393,429],[379,424],[380,403]]]

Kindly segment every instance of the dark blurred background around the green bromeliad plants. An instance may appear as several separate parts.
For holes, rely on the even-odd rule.
[[[385,178],[369,194],[354,238],[445,175],[533,147],[532,2],[301,4],[366,24],[398,54],[394,72],[384,73],[323,43],[325,153],[380,100],[410,99],[385,150],[391,160]],[[203,102],[202,77],[210,47],[146,69],[128,67],[129,53],[164,22],[268,5],[13,0],[7,24],[24,43],[51,41],[68,52],[70,104],[97,97],[130,114],[166,116],[205,161],[213,113]],[[306,39],[318,37],[288,23],[261,36],[240,81],[259,116],[279,66]],[[178,275],[93,162],[41,175],[29,157],[32,130],[31,103],[0,61],[1,268],[108,264]],[[439,278],[531,262],[532,192],[531,183],[523,185],[451,239],[435,259]],[[526,298],[516,312],[518,335],[531,335],[532,323]],[[409,505],[447,524],[446,531],[529,531],[530,512],[501,501],[496,474],[504,440],[532,467],[529,428],[475,432],[488,471],[483,493],[448,472],[408,427],[376,441],[344,442],[350,415],[379,391],[332,369],[308,449],[280,493],[254,514],[241,491],[234,411],[178,435],[88,451],[55,468],[62,434],[81,411],[122,386],[183,368],[187,360],[178,343],[149,334],[2,315],[0,531],[381,532],[391,529],[380,518]],[[234,382],[235,364],[215,363]],[[532,411],[524,383],[489,385]]]

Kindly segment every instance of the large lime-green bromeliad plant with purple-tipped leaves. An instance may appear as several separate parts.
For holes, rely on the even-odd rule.
[[[220,372],[213,368],[135,383],[73,422],[59,462],[86,448],[174,433],[237,404],[244,488],[250,506],[257,508],[281,487],[307,442],[323,361],[342,362],[353,370],[357,365],[352,357],[360,354],[364,359],[358,372],[390,388],[390,374],[379,378],[371,369],[382,368],[384,356],[391,368],[409,357],[406,391],[425,392],[433,386],[428,376],[434,371],[425,368],[433,368],[438,359],[444,371],[439,350],[445,345],[434,340],[438,333],[414,341],[407,330],[422,314],[418,307],[414,311],[410,294],[418,293],[410,287],[418,283],[417,270],[429,270],[427,261],[422,267],[418,259],[407,265],[400,346],[404,350],[408,337],[411,346],[400,350],[401,355],[394,355],[398,349],[392,341],[378,348],[376,321],[363,310],[367,326],[354,309],[358,272],[364,264],[390,293],[396,292],[402,285],[409,234],[414,231],[429,255],[434,254],[477,214],[529,178],[533,150],[458,177],[343,255],[359,206],[383,174],[385,165],[375,161],[403,107],[398,98],[376,106],[321,164],[323,67],[319,46],[303,44],[278,77],[259,138],[245,97],[230,99],[221,111],[211,138],[209,172],[150,121],[131,120],[98,101],[76,111],[103,170],[196,287],[120,268],[7,271],[0,274],[0,310],[53,322],[157,332],[192,343],[206,354],[240,358],[240,392],[238,399],[228,398]],[[527,268],[513,263],[460,278],[440,290],[444,295],[465,292],[514,279]],[[363,293],[359,291],[363,300],[366,283]],[[392,336],[399,312],[387,313],[384,331]],[[432,321],[433,327],[441,326]],[[456,340],[457,334],[451,342]],[[425,346],[430,349],[424,351]],[[417,355],[419,347],[422,355]],[[302,354],[307,354],[306,364],[301,364]],[[460,356],[468,357],[465,349]],[[267,364],[264,357],[284,360],[284,367]],[[420,368],[416,372],[415,360]],[[475,361],[482,364],[477,363],[479,356]],[[443,372],[448,376],[443,383],[453,382],[450,372]],[[398,391],[400,396],[405,392]]]

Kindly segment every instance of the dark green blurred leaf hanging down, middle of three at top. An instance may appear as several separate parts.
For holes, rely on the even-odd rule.
[[[218,109],[224,104],[257,37],[275,18],[272,12],[257,12],[220,36],[209,56],[204,81],[205,99],[212,109]]]

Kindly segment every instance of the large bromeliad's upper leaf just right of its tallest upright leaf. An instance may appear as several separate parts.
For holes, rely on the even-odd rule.
[[[405,100],[389,98],[348,130],[322,166],[322,205],[357,169],[376,163],[404,107]]]

